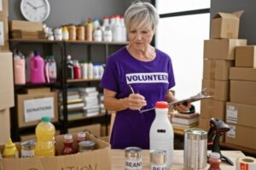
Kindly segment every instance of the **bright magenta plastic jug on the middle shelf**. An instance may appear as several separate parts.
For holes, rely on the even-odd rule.
[[[30,60],[30,82],[44,83],[44,59],[36,51],[34,57]]]

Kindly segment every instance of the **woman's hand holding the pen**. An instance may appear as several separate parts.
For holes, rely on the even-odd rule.
[[[125,99],[125,105],[131,110],[141,110],[143,106],[147,105],[147,101],[141,94],[130,94]]]

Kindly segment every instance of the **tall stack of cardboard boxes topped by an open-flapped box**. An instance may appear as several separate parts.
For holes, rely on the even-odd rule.
[[[204,42],[204,70],[202,88],[212,99],[201,101],[199,127],[209,129],[209,120],[216,117],[224,121],[226,102],[230,99],[229,69],[235,65],[235,48],[247,45],[237,39],[242,11],[233,14],[218,13],[212,19],[211,39]]]

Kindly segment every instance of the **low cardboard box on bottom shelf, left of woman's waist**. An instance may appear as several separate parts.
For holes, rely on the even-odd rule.
[[[96,137],[100,137],[102,136],[101,130],[102,130],[102,125],[99,123],[96,123],[96,124],[87,125],[83,127],[68,128],[68,133],[88,132],[95,135]]]

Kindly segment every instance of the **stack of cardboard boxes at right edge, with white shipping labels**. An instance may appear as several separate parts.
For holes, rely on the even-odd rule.
[[[236,48],[226,111],[226,122],[231,129],[225,142],[256,150],[256,46]]]

